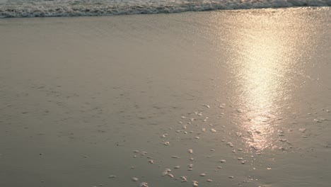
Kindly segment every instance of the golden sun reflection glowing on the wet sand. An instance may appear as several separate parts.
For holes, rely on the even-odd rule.
[[[239,52],[228,65],[236,82],[236,123],[247,132],[243,137],[248,147],[265,149],[274,147],[286,108],[284,100],[291,97],[289,79],[295,71],[291,46],[295,39],[284,40],[283,30],[272,27],[274,23],[267,17],[258,21],[242,22],[243,27],[233,33],[232,45]],[[271,29],[261,28],[264,24]]]

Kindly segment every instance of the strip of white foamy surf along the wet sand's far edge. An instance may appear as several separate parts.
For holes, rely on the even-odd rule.
[[[331,0],[0,0],[0,18],[331,6]]]

